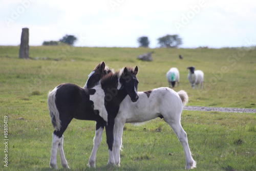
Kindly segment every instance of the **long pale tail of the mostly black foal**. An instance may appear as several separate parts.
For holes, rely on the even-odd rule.
[[[56,92],[57,92],[57,88],[55,88],[53,91],[49,92],[47,103],[48,103],[48,110],[49,110],[49,114],[51,116],[51,121],[52,121],[54,130],[59,131],[61,125],[60,125],[60,120],[59,120],[59,111],[58,111],[56,103],[55,103]]]

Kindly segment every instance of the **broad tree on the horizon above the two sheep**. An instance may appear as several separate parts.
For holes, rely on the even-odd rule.
[[[179,35],[169,35],[157,39],[161,48],[178,48],[182,44],[182,39]]]

